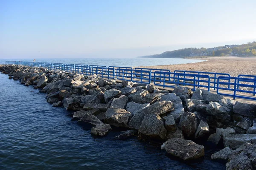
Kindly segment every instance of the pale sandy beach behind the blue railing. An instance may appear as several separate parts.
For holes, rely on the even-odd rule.
[[[256,57],[209,57],[194,59],[204,59],[206,61],[177,65],[144,66],[144,68],[169,69],[172,72],[175,70],[186,70],[228,73],[232,77],[237,77],[239,74],[256,75]]]

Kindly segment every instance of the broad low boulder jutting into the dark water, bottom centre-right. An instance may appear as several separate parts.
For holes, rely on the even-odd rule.
[[[166,153],[183,160],[193,160],[204,156],[204,146],[180,138],[169,139],[165,149]]]

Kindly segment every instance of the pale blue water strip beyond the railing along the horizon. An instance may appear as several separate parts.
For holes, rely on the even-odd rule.
[[[33,59],[0,59],[0,64],[5,61],[33,61]],[[79,59],[36,59],[36,62],[55,62],[66,64],[105,65],[121,67],[139,67],[151,65],[173,65],[201,62],[201,59],[182,58],[79,58]]]

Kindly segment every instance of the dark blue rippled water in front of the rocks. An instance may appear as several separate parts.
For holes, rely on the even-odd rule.
[[[160,147],[139,141],[113,140],[120,132],[94,138],[53,108],[45,94],[0,74],[0,170],[24,169],[161,169],[221,170],[209,154],[197,162],[183,162],[165,155]]]

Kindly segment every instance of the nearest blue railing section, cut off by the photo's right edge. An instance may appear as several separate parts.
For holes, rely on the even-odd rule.
[[[236,99],[236,97],[243,98],[243,99],[252,99],[256,100],[256,97],[250,97],[250,96],[242,96],[238,95],[237,92],[242,93],[249,93],[253,94],[255,96],[256,92],[256,79],[249,79],[249,78],[243,78],[243,77],[229,77],[230,79],[227,82],[227,77],[218,77],[217,81],[217,94],[221,94],[224,96],[230,96],[233,97],[233,99]],[[251,85],[250,83],[253,83]],[[241,89],[244,88],[244,89]],[[221,93],[219,90],[222,91],[233,91],[233,94],[228,93]]]

